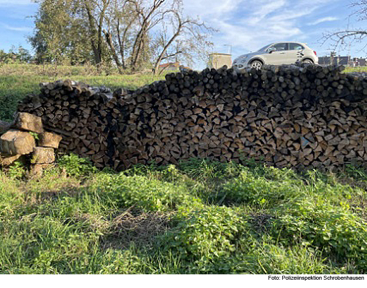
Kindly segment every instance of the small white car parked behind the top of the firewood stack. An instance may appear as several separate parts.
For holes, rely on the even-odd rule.
[[[242,55],[233,61],[233,68],[242,70],[247,66],[260,69],[262,65],[293,64],[296,62],[319,63],[316,51],[305,43],[276,42],[262,47],[259,51]]]

